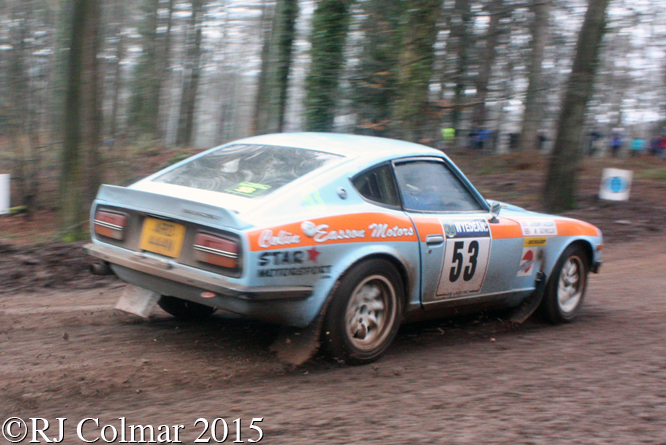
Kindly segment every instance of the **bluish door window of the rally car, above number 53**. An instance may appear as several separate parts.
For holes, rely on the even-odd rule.
[[[411,161],[396,165],[398,188],[405,210],[473,212],[484,208],[443,163]]]

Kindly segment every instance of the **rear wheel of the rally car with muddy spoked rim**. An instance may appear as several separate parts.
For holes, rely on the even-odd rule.
[[[398,333],[403,301],[402,278],[393,264],[374,259],[352,267],[324,317],[322,342],[330,356],[350,365],[377,360]]]

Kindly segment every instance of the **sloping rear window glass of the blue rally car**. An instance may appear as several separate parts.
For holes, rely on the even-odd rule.
[[[338,158],[316,150],[236,144],[195,158],[153,181],[253,198]]]

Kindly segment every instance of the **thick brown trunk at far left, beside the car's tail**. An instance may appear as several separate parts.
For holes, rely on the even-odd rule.
[[[72,23],[60,175],[60,219],[66,241],[83,237],[88,204],[85,200],[94,192],[90,187],[99,181],[100,175],[95,145],[100,134],[98,2],[74,0]],[[88,177],[86,170],[91,172]]]

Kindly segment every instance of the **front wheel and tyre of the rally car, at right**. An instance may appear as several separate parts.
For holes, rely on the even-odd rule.
[[[544,318],[553,324],[573,321],[583,304],[590,260],[582,246],[564,250],[555,264],[541,304]]]

